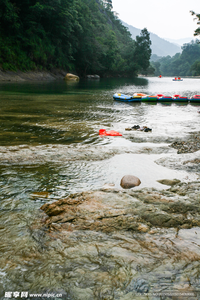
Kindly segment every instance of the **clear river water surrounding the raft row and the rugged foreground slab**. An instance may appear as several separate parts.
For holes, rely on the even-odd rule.
[[[113,101],[112,95],[119,91],[190,96],[200,93],[199,80],[3,82],[0,83],[0,145],[135,147],[138,143],[133,143],[130,132],[124,131],[135,124],[152,127],[152,136],[181,137],[199,131],[198,104],[126,104]],[[100,137],[101,128],[123,131],[123,137]],[[142,146],[152,144],[147,139]],[[153,145],[168,144],[158,141]],[[198,177],[196,173],[171,170],[154,163],[162,156],[166,154],[127,153],[97,162],[1,166],[0,297],[3,299],[6,291],[25,290],[58,291],[65,299],[132,299],[125,297],[137,285],[145,289],[149,284],[157,289],[159,285],[171,284],[174,288],[175,284],[188,283],[189,277],[192,286],[198,286],[196,235],[199,229],[197,233],[195,229],[182,229],[178,235],[172,229],[168,233],[163,231],[163,238],[170,237],[175,244],[181,239],[186,247],[190,242],[190,255],[181,257],[175,250],[170,253],[169,249],[162,248],[162,238],[157,248],[151,241],[144,246],[139,236],[131,232],[110,236],[100,232],[68,232],[51,239],[35,225],[41,218],[38,209],[43,203],[69,193],[106,187],[106,183],[121,188],[120,180],[127,173],[140,178],[141,188],[169,188],[156,182],[158,179],[192,181]]]

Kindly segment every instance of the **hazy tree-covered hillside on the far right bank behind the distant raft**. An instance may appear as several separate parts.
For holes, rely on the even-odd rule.
[[[166,56],[160,59],[154,57],[151,65],[156,69],[155,75],[163,76],[198,76],[200,61],[199,40],[184,44],[182,53]],[[156,61],[155,61],[156,60]]]

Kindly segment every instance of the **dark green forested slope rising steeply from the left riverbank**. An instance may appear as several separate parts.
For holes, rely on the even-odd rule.
[[[0,0],[0,66],[136,74],[149,67],[151,41],[136,41],[111,0]]]

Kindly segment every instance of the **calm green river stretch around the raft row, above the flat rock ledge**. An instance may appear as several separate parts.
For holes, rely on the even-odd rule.
[[[121,103],[113,94],[140,91],[172,95],[199,94],[199,79],[171,78],[63,80],[0,83],[0,145],[48,143],[98,144],[101,128],[124,131],[148,125],[157,135],[198,130],[198,104]],[[175,124],[176,122],[176,124]],[[151,128],[150,127],[150,128]]]

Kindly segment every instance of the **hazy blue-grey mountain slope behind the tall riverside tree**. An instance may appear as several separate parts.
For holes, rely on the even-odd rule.
[[[140,35],[141,29],[133,27],[122,21],[122,25],[128,27],[133,40],[136,39],[136,35]],[[160,38],[158,35],[150,32],[150,40],[151,40],[151,50],[152,54],[157,54],[158,56],[173,56],[176,53],[182,52],[181,46],[177,46],[173,43],[170,43],[163,38]]]

